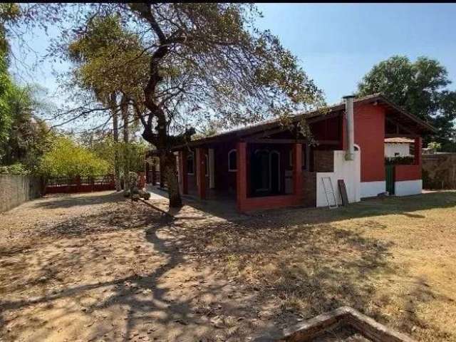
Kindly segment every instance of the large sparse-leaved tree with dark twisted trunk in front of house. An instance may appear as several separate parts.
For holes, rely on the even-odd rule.
[[[81,11],[78,18],[87,20],[73,27],[71,41],[86,36],[96,18],[116,14],[140,45],[128,50],[134,56],[120,53],[125,59],[117,66],[99,65],[99,73],[108,81],[130,66],[145,72],[140,81],[130,74],[141,91],[128,95],[142,137],[160,154],[172,207],[181,205],[172,147],[190,140],[193,125],[202,119],[243,125],[323,104],[296,57],[269,31],[255,28],[260,14],[251,4],[97,4]],[[121,51],[125,46],[112,43]]]

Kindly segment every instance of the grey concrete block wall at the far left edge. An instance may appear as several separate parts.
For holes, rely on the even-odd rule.
[[[17,175],[0,175],[0,212],[17,207],[41,196],[39,178]]]

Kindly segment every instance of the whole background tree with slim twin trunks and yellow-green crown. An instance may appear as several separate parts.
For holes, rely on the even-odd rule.
[[[68,46],[68,56],[76,68],[71,81],[83,90],[93,92],[95,98],[110,108],[113,118],[113,138],[115,142],[115,178],[120,190],[120,164],[123,165],[124,184],[127,181],[128,142],[130,140],[130,99],[138,93],[142,68],[136,63],[127,63],[139,54],[138,39],[123,31],[119,16],[100,16],[93,18],[83,35],[78,36]],[[140,62],[140,58],[136,58]],[[118,117],[123,121],[123,155],[120,156],[118,144]],[[122,159],[122,162],[120,161]],[[124,189],[126,187],[124,186]]]

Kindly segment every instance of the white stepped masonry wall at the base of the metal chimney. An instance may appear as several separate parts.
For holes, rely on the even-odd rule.
[[[343,180],[347,188],[348,202],[359,202],[361,184],[361,158],[360,152],[355,151],[353,160],[345,160],[346,151],[334,151],[334,172],[316,172],[316,206],[327,207],[325,191],[323,189],[323,177],[331,177],[333,188],[336,192],[338,204],[342,203],[338,189],[338,180]],[[328,195],[333,204],[332,195]]]

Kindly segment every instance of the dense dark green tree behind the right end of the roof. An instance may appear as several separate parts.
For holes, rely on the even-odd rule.
[[[373,66],[358,84],[358,95],[383,93],[394,103],[434,125],[435,137],[445,143],[455,136],[456,92],[447,69],[434,59],[419,57],[415,62],[393,56]]]

